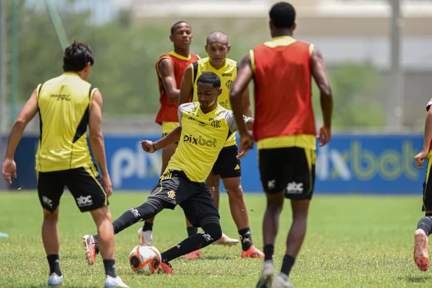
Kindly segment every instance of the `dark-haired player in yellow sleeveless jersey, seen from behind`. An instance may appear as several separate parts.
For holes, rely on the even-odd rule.
[[[16,177],[14,154],[27,123],[37,112],[41,136],[36,153],[38,195],[43,208],[42,241],[50,275],[48,285],[63,285],[58,251],[58,206],[65,186],[81,212],[90,211],[100,239],[105,266],[105,287],[128,287],[115,273],[114,231],[108,197],[112,194],[104,138],[101,132],[102,95],[86,81],[95,59],[88,45],[74,42],[63,54],[65,73],[39,84],[12,127],[3,163],[3,177]],[[87,125],[93,154],[87,146]]]

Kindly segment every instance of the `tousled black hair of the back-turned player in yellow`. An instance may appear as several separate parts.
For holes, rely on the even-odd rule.
[[[88,62],[93,65],[95,57],[87,44],[74,41],[72,45],[66,47],[63,53],[64,71],[81,71]]]

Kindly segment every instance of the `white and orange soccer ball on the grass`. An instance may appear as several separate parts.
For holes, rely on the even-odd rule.
[[[155,274],[161,267],[161,253],[155,246],[140,244],[129,254],[129,264],[136,273]]]

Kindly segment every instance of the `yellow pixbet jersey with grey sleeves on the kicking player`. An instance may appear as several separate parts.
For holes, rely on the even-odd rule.
[[[234,115],[221,105],[204,114],[199,102],[192,102],[178,107],[178,120],[181,136],[167,170],[181,170],[190,180],[204,182],[225,141],[237,131]]]

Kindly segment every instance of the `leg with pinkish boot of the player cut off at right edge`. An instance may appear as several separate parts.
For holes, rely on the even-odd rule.
[[[418,269],[427,271],[429,268],[429,253],[427,237],[432,233],[432,180],[430,180],[431,159],[427,159],[426,177],[423,183],[423,204],[421,210],[425,212],[417,223],[414,232],[414,262]]]

